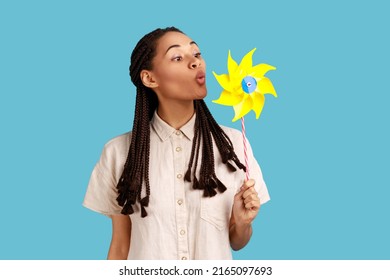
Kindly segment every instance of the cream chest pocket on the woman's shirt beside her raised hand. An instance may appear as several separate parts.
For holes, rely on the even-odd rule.
[[[217,193],[213,197],[201,197],[200,217],[219,231],[229,226],[234,194],[232,190]]]

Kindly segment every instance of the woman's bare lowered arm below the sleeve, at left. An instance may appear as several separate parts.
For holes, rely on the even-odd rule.
[[[130,250],[131,220],[128,215],[111,215],[112,239],[107,259],[126,260]]]

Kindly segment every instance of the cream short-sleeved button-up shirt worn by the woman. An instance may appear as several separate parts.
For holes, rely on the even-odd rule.
[[[137,203],[135,213],[130,215],[132,232],[128,259],[232,259],[229,221],[234,195],[243,184],[245,173],[238,168],[236,172],[230,172],[222,163],[214,144],[215,172],[227,190],[211,198],[203,197],[203,190],[194,190],[192,183],[184,181],[191,155],[194,123],[195,115],[180,130],[176,130],[157,113],[151,120],[148,216],[141,218]],[[227,127],[222,129],[244,163],[241,132]],[[122,207],[116,201],[116,185],[130,141],[131,133],[126,133],[104,146],[89,181],[83,202],[85,207],[105,215],[120,214]],[[270,199],[268,190],[251,147],[247,146],[250,177],[256,182],[255,188],[263,204]]]

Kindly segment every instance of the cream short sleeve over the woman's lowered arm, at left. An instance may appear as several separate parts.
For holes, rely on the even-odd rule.
[[[115,150],[111,146],[109,143],[104,146],[92,171],[83,201],[84,207],[106,216],[120,214],[122,210],[116,201]]]

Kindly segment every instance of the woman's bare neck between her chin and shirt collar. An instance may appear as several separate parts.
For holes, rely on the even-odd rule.
[[[194,115],[194,102],[166,102],[159,103],[157,114],[159,117],[175,129],[180,129]]]

